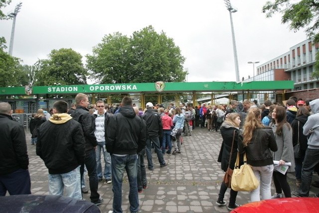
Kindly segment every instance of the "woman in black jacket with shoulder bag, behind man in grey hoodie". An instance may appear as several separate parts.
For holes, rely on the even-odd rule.
[[[293,129],[293,145],[294,147],[300,143],[300,155],[295,156],[295,173],[296,173],[296,186],[299,187],[301,184],[301,169],[308,147],[307,136],[303,133],[303,127],[308,120],[310,113],[306,107],[301,107],[297,111],[296,118],[293,120],[291,127]],[[298,157],[298,158],[296,158]]]

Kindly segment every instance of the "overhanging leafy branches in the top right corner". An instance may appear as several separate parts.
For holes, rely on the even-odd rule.
[[[266,17],[274,13],[282,13],[282,23],[288,23],[291,30],[305,28],[307,36],[319,42],[319,2],[318,0],[275,0],[267,1],[262,11]],[[319,53],[316,54],[313,77],[319,78]]]

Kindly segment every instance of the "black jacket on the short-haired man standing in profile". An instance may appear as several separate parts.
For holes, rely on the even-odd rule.
[[[98,145],[94,135],[93,117],[87,108],[76,106],[72,118],[82,125],[82,130],[85,138],[85,151],[91,150]]]

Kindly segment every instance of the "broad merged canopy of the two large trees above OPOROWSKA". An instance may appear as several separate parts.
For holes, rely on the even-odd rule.
[[[185,58],[164,32],[152,26],[131,37],[119,32],[103,37],[86,55],[90,78],[97,83],[144,83],[183,81]]]

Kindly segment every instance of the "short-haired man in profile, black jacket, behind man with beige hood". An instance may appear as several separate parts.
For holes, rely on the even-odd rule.
[[[84,139],[85,139],[85,159],[84,164],[88,170],[89,175],[89,184],[91,191],[91,202],[95,205],[101,205],[103,199],[100,198],[98,193],[99,180],[97,175],[97,166],[96,166],[96,154],[95,147],[98,145],[96,137],[94,135],[93,129],[93,117],[90,115],[88,110],[89,99],[86,94],[79,93],[75,96],[76,109],[72,114],[74,120],[78,121],[83,130]],[[81,165],[80,173],[81,180],[84,173],[84,164]]]

